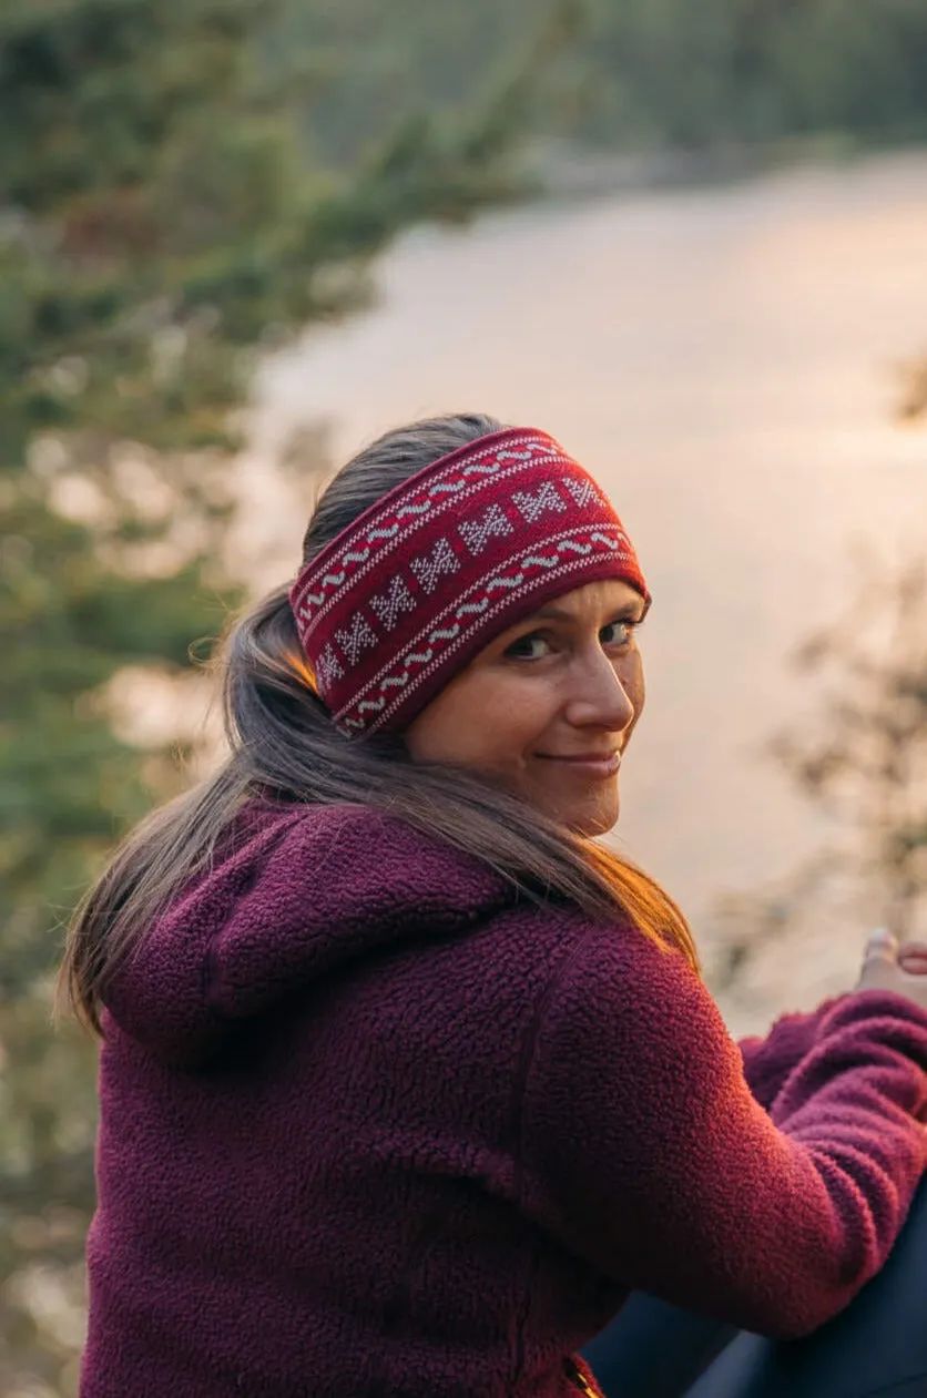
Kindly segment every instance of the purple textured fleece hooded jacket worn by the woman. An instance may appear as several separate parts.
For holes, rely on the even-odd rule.
[[[82,1398],[575,1398],[632,1289],[805,1334],[905,1220],[926,1067],[875,991],[741,1057],[633,927],[254,802],[109,997]]]

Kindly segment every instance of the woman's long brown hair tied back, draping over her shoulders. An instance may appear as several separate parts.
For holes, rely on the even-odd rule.
[[[305,535],[303,566],[387,491],[501,426],[467,414],[415,422],[373,442],[323,491]],[[412,763],[401,740],[343,737],[315,692],[287,587],[231,628],[220,664],[228,756],[214,774],[136,826],[74,916],[60,993],[89,1028],[99,1032],[119,966],[158,913],[208,865],[238,811],[256,794],[387,812],[484,860],[527,898],[559,896],[596,918],[631,918],[698,969],[682,913],[654,879],[618,854],[471,773]]]

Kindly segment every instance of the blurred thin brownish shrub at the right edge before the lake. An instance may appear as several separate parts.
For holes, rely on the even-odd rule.
[[[797,948],[860,917],[900,941],[927,909],[927,565],[857,551],[845,611],[794,654],[815,710],[770,742],[783,773],[832,821],[832,836],[775,885],[716,907],[713,984],[730,991],[770,948]]]

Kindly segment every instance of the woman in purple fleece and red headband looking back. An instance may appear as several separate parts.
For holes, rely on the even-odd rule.
[[[417,424],[329,485],[232,632],[231,756],[73,930],[84,1398],[596,1392],[576,1350],[635,1288],[800,1335],[881,1267],[926,981],[874,951],[731,1043],[682,914],[594,843],[649,605],[542,432]]]

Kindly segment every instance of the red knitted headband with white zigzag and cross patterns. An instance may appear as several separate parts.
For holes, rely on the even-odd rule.
[[[316,688],[347,735],[398,731],[494,636],[618,577],[649,600],[596,482],[547,433],[509,428],[418,471],[289,591]]]

